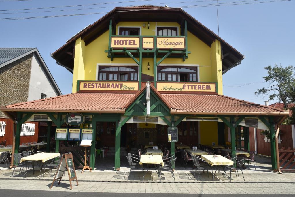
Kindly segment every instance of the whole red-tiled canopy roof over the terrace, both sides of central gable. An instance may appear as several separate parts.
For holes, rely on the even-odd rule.
[[[171,114],[191,115],[246,115],[275,116],[276,123],[289,115],[288,111],[238,100],[222,95],[160,94],[151,89],[170,108]],[[73,93],[29,102],[2,106],[9,117],[16,112],[77,112],[77,113],[125,113],[125,109],[146,87],[135,94],[122,93]]]

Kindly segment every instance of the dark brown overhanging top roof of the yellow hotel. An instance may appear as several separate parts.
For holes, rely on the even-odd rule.
[[[136,16],[136,17],[135,17]],[[109,30],[109,20],[112,19],[114,27],[121,21],[147,21],[147,22],[177,22],[180,25],[187,21],[187,30],[211,47],[217,39],[221,42],[222,73],[240,64],[244,56],[225,42],[222,38],[209,30],[181,8],[162,6],[134,6],[116,7],[99,20],[88,25],[79,33],[71,37],[66,43],[52,53],[58,64],[73,72],[74,47],[76,40],[82,38],[86,45]],[[114,28],[115,29],[115,28]],[[107,50],[107,49],[104,49]]]

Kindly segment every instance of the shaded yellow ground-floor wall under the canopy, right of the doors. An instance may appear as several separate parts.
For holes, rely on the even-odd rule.
[[[200,143],[211,145],[212,142],[218,144],[217,122],[199,121]]]

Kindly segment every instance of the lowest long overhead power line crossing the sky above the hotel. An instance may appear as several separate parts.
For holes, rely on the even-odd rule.
[[[250,0],[250,1],[261,1],[261,0]],[[219,6],[258,4],[258,3],[270,3],[270,2],[279,2],[279,1],[289,1],[289,0],[263,1],[263,2],[251,2],[251,3],[241,3],[241,2],[248,2],[248,1],[236,1],[236,2],[220,3],[220,4],[226,4],[226,5],[219,5]],[[237,3],[237,4],[233,4],[233,3]],[[116,12],[97,12],[97,13],[66,14],[66,15],[37,16],[37,17],[0,18],[0,20],[54,18],[54,17],[81,16],[81,15],[106,14],[106,13],[117,13],[117,12],[134,12],[134,11],[146,11],[146,10],[157,10],[157,9],[194,8],[194,7],[211,7],[211,6],[217,6],[217,5],[216,4],[203,4],[203,5],[181,6],[181,7],[161,7],[161,8],[149,8],[149,9],[134,9],[134,10],[124,10],[124,11],[116,11]]]

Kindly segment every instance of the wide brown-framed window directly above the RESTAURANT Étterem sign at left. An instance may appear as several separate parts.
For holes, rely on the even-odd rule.
[[[138,67],[99,66],[98,80],[105,81],[137,81]]]

